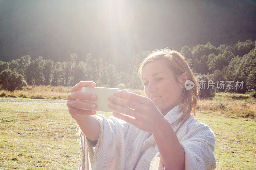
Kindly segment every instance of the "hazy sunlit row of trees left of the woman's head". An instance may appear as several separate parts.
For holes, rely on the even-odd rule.
[[[0,72],[17,72],[28,85],[73,86],[79,81],[89,80],[102,87],[125,84],[127,88],[140,88],[136,75],[136,68],[139,66],[138,56],[132,56],[126,73],[116,71],[113,64],[103,62],[102,58],[93,59],[90,53],[84,61],[77,63],[76,59],[77,55],[71,54],[68,61],[54,63],[53,60],[45,60],[41,56],[31,60],[30,55],[25,55],[9,62],[0,61]]]

